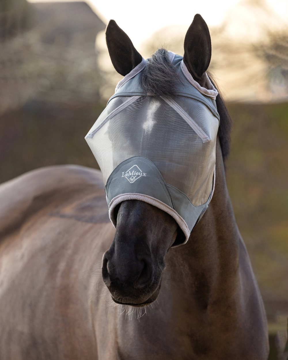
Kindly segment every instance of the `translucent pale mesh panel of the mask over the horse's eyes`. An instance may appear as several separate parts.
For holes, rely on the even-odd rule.
[[[117,96],[100,115],[87,141],[102,170],[104,184],[122,161],[144,156],[156,165],[167,184],[198,206],[211,192],[219,122],[197,100],[184,96],[171,99],[186,112],[186,121],[159,96]],[[204,142],[193,124],[210,141]]]

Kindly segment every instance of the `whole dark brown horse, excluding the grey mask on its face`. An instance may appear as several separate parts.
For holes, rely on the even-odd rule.
[[[112,20],[106,39],[127,75],[141,55]],[[201,86],[210,59],[197,14],[184,62]],[[157,71],[148,80],[162,94],[173,84]],[[181,246],[171,248],[176,221],[139,200],[119,204],[114,229],[98,170],[45,167],[0,186],[1,360],[267,359],[265,309],[225,181],[230,117],[220,94],[216,104],[215,191]]]

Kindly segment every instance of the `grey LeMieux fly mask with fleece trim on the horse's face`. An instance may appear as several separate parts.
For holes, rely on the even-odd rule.
[[[136,66],[117,85],[115,94],[85,139],[103,174],[109,217],[136,199],[166,211],[184,233],[185,243],[208,207],[215,185],[217,90],[190,75],[183,57],[168,52],[181,77],[173,96],[145,94]]]

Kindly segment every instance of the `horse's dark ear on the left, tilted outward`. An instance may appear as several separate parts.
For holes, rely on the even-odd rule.
[[[142,61],[129,36],[114,20],[107,25],[106,42],[112,64],[121,75],[127,75]]]

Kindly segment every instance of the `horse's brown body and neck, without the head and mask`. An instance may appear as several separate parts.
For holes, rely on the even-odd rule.
[[[1,185],[0,358],[266,359],[265,311],[219,143],[216,164],[210,207],[168,251],[157,303],[140,319],[111,306],[102,285],[114,229],[99,171],[44,168]]]

